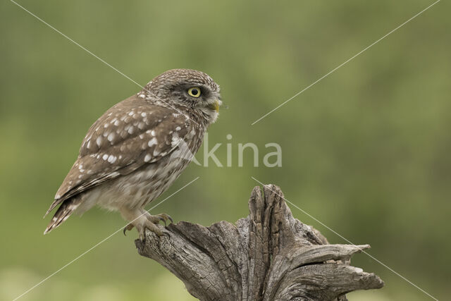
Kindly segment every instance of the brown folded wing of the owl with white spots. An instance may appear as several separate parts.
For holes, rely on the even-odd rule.
[[[132,96],[89,128],[77,161],[46,215],[64,200],[171,154],[193,135],[187,116]]]

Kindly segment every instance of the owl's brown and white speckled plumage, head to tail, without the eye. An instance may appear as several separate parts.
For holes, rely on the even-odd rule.
[[[190,87],[199,87],[201,96],[187,94]],[[144,206],[190,163],[219,104],[219,87],[209,75],[173,69],[111,107],[89,128],[47,211],[61,204],[44,233],[97,204],[121,211],[142,236]]]

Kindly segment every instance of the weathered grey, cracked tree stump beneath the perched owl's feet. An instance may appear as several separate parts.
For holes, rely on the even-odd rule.
[[[180,221],[162,237],[147,231],[138,252],[165,266],[199,300],[346,300],[353,290],[381,288],[374,274],[350,266],[369,245],[329,245],[293,218],[275,185],[252,190],[250,214],[235,225]]]

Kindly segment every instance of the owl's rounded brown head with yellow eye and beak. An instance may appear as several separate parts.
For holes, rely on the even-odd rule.
[[[149,82],[146,90],[167,104],[199,111],[209,123],[216,121],[222,104],[219,85],[197,70],[168,70]]]

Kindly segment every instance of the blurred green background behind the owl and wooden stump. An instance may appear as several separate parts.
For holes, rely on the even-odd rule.
[[[345,238],[371,244],[370,254],[431,295],[449,297],[449,2],[255,125],[433,1],[19,3],[142,85],[171,68],[203,70],[221,85],[229,109],[211,126],[209,145],[222,143],[216,154],[225,163],[232,143],[233,166],[191,164],[160,199],[199,180],[152,212],[205,226],[236,221],[248,214],[254,176]],[[93,209],[42,235],[42,216],[87,129],[140,87],[12,2],[1,2],[0,17],[0,300],[12,300],[125,225]],[[237,167],[237,144],[246,142],[259,146],[260,163],[264,145],[277,142],[283,166],[254,167],[247,152]],[[175,276],[137,254],[135,238],[113,235],[20,300],[192,300]],[[428,300],[364,254],[352,263],[385,288],[350,300]]]

